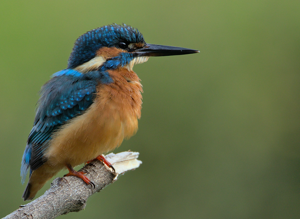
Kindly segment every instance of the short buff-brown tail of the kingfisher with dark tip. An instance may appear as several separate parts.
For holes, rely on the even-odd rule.
[[[40,190],[57,172],[58,171],[51,170],[49,165],[46,163],[34,170],[22,195],[24,201],[33,199],[38,190]]]

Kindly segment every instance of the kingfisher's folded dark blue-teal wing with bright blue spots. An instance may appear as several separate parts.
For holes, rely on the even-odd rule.
[[[29,165],[32,172],[45,162],[44,151],[52,133],[93,103],[96,84],[95,80],[84,76],[60,75],[42,87],[34,126],[22,159],[22,181]]]

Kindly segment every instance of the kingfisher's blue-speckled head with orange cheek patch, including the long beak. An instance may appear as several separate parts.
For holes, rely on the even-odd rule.
[[[182,47],[147,44],[135,28],[108,25],[81,35],[75,42],[68,60],[68,69],[80,72],[128,68],[146,62],[149,56],[173,56],[197,53],[198,50]]]

